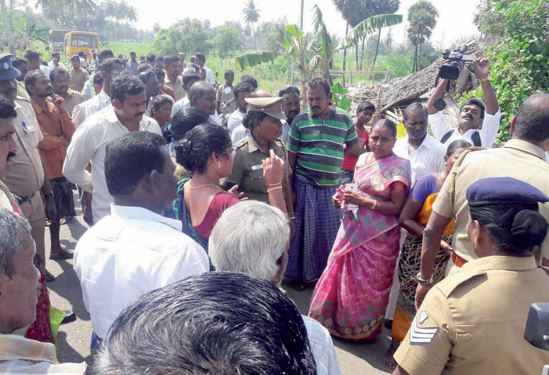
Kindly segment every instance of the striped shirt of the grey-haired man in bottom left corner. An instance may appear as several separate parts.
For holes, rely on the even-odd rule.
[[[86,363],[57,362],[55,345],[17,335],[0,335],[0,374],[84,374]]]

